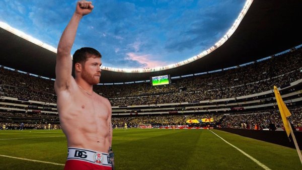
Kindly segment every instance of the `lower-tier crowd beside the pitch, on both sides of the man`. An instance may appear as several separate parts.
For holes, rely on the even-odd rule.
[[[294,127],[302,127],[302,106],[289,108],[291,116],[289,121]],[[23,118],[29,123],[25,124],[25,129],[45,129],[47,122],[55,122],[56,129],[60,129],[58,115],[39,115],[23,113],[0,113],[0,127],[6,125],[9,129],[18,129],[19,123],[14,122],[13,118]],[[36,118],[36,119],[31,119]],[[201,120],[211,118],[213,122],[187,123],[187,120]],[[16,121],[15,121],[16,122]],[[44,122],[44,123],[43,123]],[[258,125],[259,129],[269,129],[273,124],[275,128],[282,127],[283,122],[277,109],[265,111],[250,111],[234,114],[190,114],[190,115],[135,115],[135,116],[115,116],[112,117],[113,127],[121,128],[127,123],[129,127],[137,127],[139,124],[151,124],[154,127],[167,125],[188,125],[189,127],[228,127],[254,129]],[[274,130],[274,129],[272,129]]]

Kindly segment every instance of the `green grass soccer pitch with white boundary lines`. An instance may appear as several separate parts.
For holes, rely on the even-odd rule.
[[[295,149],[219,130],[114,129],[112,148],[115,169],[302,169]],[[0,169],[63,169],[66,156],[61,130],[0,131]]]

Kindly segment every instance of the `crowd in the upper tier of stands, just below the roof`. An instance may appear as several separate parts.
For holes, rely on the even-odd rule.
[[[194,102],[245,96],[272,90],[302,78],[302,48],[235,69],[173,79],[172,84],[149,83],[95,86],[112,106]],[[0,68],[3,96],[56,103],[53,81]]]

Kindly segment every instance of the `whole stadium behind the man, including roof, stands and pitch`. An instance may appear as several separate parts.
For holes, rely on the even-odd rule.
[[[115,169],[301,169],[274,86],[302,148],[302,2],[247,6],[230,35],[193,58],[102,67],[94,92],[112,105]],[[0,26],[0,169],[63,169],[56,52]]]

